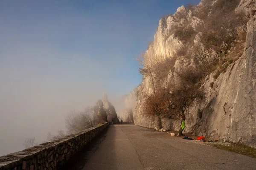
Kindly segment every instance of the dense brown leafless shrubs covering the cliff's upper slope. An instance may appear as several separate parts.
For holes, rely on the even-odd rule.
[[[205,0],[202,2],[203,6],[191,8],[192,16],[200,18],[203,24],[197,24],[194,28],[189,23],[173,26],[170,34],[183,42],[177,55],[198,60],[207,74],[215,71],[219,65],[224,65],[226,60],[236,60],[237,55],[230,55],[231,49],[244,43],[248,21],[241,11],[235,12],[239,2],[240,0]]]

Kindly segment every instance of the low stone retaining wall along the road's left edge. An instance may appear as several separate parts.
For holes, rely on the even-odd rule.
[[[0,170],[57,170],[99,135],[108,123],[0,157]]]

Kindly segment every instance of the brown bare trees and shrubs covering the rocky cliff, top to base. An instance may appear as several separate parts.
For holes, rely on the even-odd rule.
[[[235,11],[239,2],[204,0],[198,6],[180,8],[168,16],[174,23],[164,39],[174,36],[179,40],[176,53],[137,57],[139,71],[152,89],[140,105],[145,115],[157,118],[158,128],[162,128],[162,118],[188,121],[189,108],[204,99],[205,77],[213,74],[217,79],[243,54],[248,17]],[[160,20],[163,29],[167,29],[168,17]],[[214,82],[210,87],[213,85]],[[180,135],[182,131],[180,128]]]

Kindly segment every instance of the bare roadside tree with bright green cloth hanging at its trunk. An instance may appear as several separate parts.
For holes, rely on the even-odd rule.
[[[193,68],[186,68],[183,71],[175,72],[175,75],[177,81],[170,82],[168,87],[170,112],[164,116],[179,116],[182,124],[183,121],[191,116],[189,108],[204,99],[204,91],[200,88],[202,75]],[[179,135],[182,135],[182,132],[183,128],[180,127]]]

